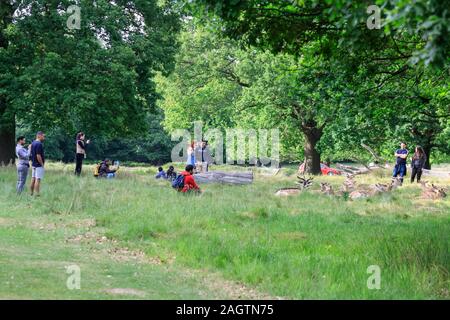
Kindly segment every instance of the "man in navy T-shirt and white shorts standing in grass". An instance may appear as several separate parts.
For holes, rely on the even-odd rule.
[[[45,134],[42,131],[39,131],[36,134],[36,140],[31,144],[31,195],[36,194],[39,196],[41,181],[44,178],[44,140]]]

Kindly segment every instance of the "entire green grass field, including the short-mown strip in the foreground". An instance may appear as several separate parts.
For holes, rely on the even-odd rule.
[[[72,172],[50,164],[33,198],[15,195],[15,168],[0,169],[0,298],[450,298],[450,198],[421,200],[416,185],[358,201],[275,197],[295,181],[288,168],[185,196],[154,180],[155,168],[122,168],[115,180]],[[318,177],[314,189],[342,180]],[[74,264],[80,290],[66,287]],[[371,265],[379,290],[367,287]]]

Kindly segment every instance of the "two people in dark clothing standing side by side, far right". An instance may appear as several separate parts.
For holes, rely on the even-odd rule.
[[[406,149],[406,143],[400,143],[400,149],[397,149],[394,153],[396,162],[392,177],[395,179],[400,179],[401,184],[403,184],[403,178],[407,173],[406,164],[408,155],[409,151]],[[416,146],[414,154],[411,157],[411,183],[413,183],[416,179],[417,182],[420,182],[426,161],[427,156],[423,148],[421,146]]]

